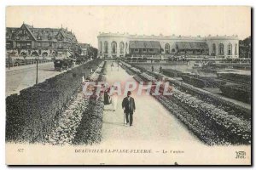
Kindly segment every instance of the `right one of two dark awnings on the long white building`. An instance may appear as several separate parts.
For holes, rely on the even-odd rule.
[[[178,49],[209,49],[207,42],[176,42]]]

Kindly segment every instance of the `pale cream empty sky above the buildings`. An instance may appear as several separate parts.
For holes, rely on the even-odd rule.
[[[228,6],[9,6],[6,26],[72,30],[79,42],[97,48],[99,32],[137,35],[251,35],[251,8]]]

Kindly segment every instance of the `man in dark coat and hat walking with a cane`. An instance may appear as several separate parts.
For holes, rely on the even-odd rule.
[[[130,116],[130,126],[132,126],[133,121],[133,113],[135,112],[135,102],[134,99],[131,97],[131,91],[128,91],[127,97],[123,99],[122,108],[125,110],[125,120],[126,124],[129,123],[128,116]]]

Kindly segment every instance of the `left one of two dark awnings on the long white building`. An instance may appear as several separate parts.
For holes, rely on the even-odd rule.
[[[129,48],[161,48],[160,42],[156,41],[131,41]]]

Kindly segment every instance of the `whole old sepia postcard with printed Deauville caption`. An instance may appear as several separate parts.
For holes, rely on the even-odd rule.
[[[251,8],[9,6],[6,164],[251,165]]]

